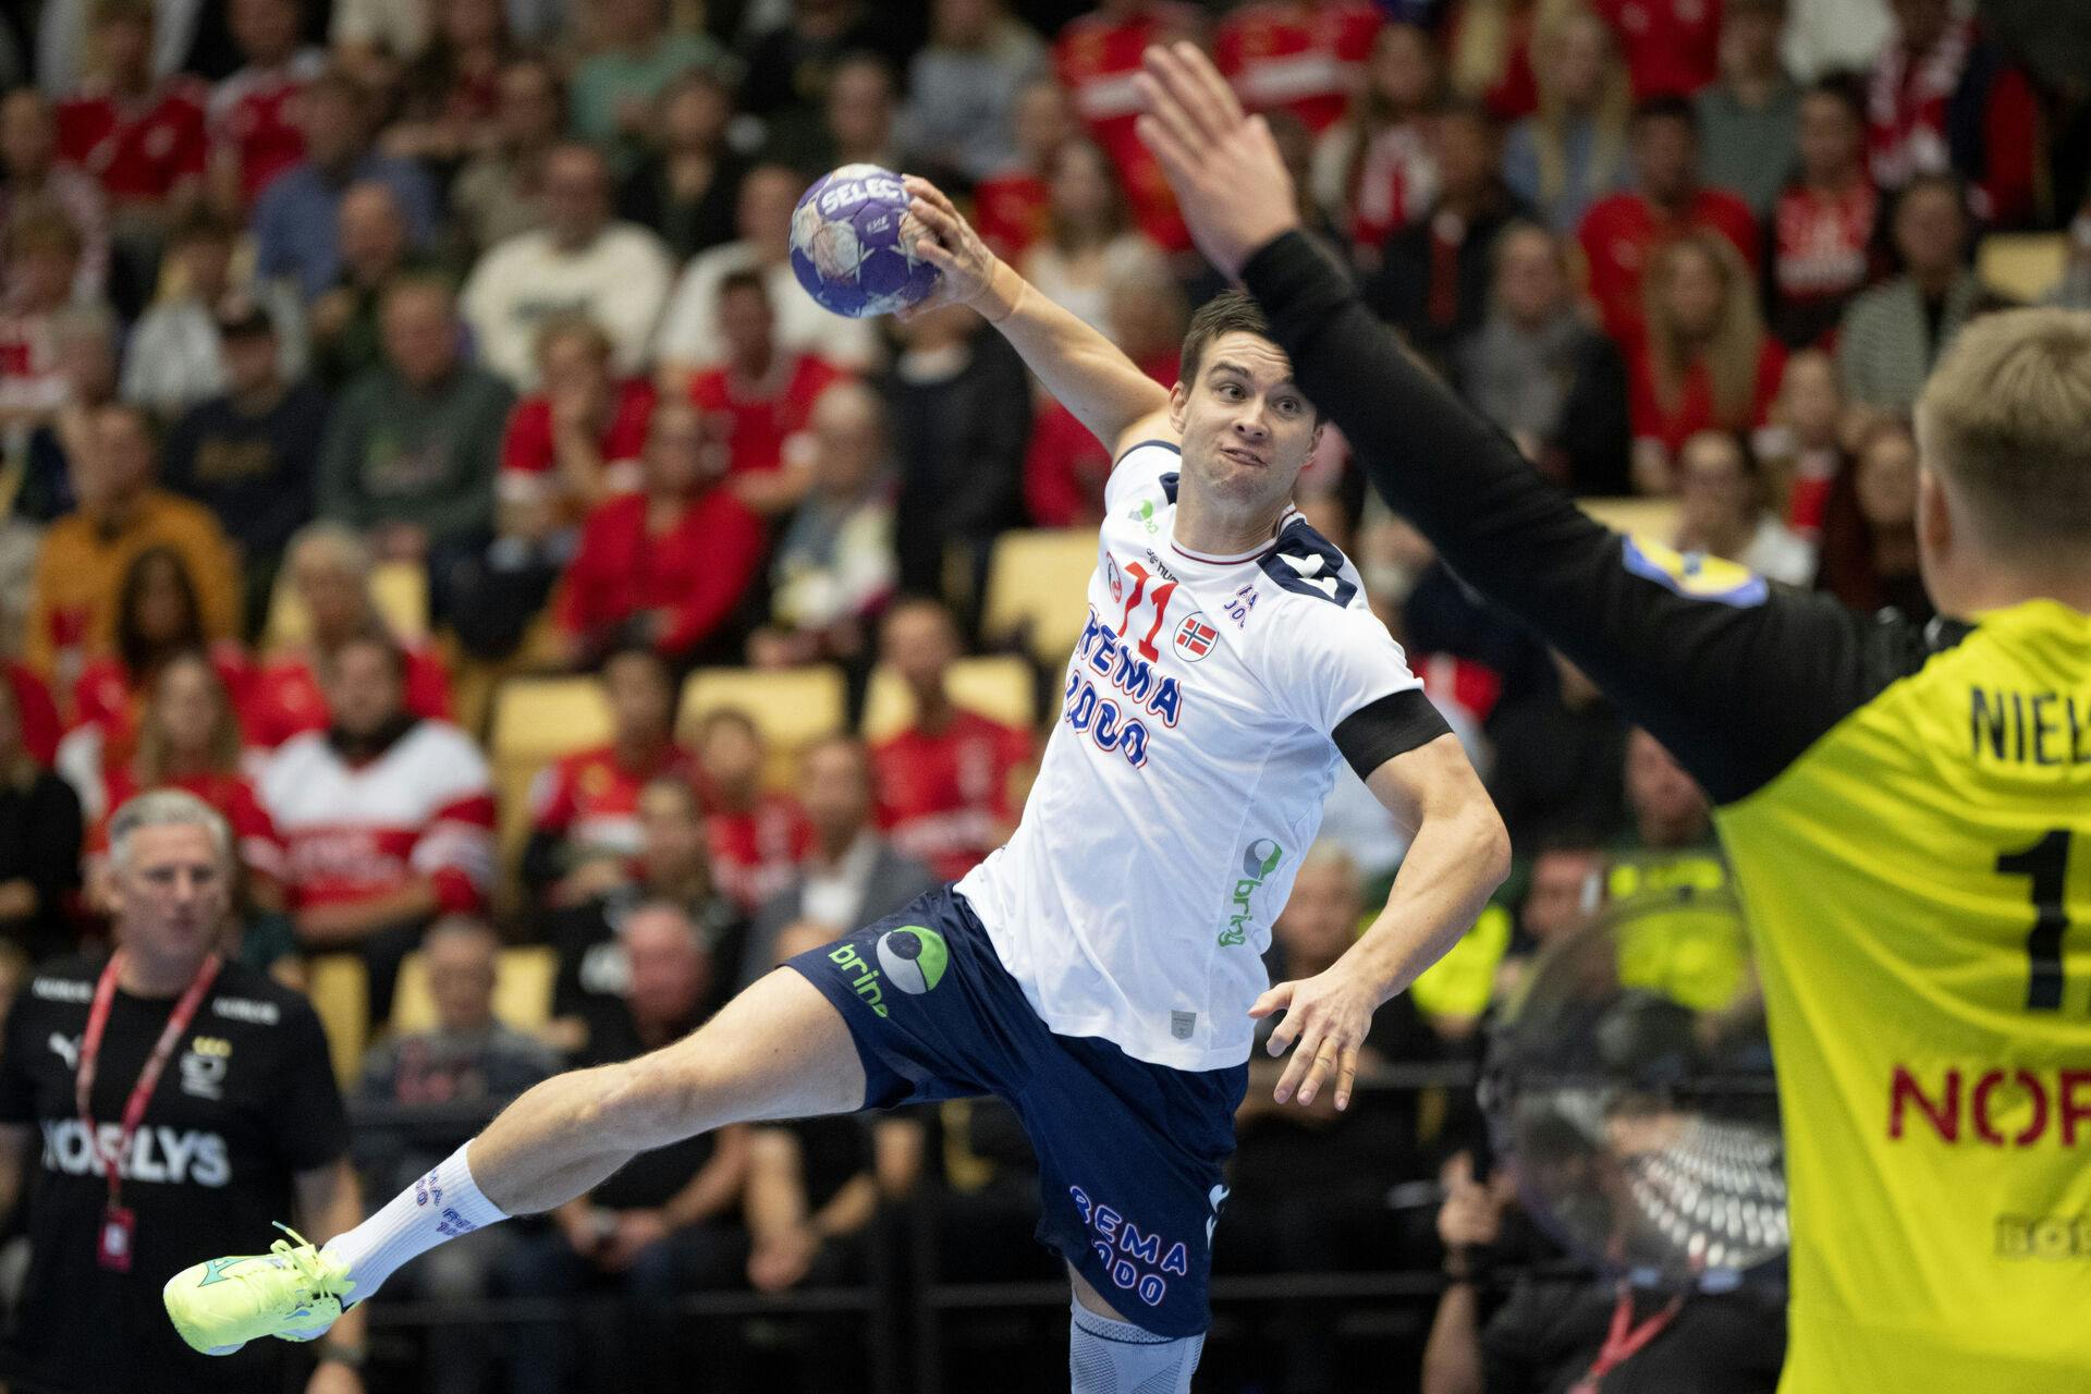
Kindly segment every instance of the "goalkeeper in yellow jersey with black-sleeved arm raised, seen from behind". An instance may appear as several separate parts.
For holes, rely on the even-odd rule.
[[[1380,493],[1717,803],[1786,1120],[1782,1390],[2091,1388],[2091,316],[1999,313],[1940,359],[1940,619],[1867,617],[1585,518],[1315,251],[1202,54],[1140,82],[1198,247]]]

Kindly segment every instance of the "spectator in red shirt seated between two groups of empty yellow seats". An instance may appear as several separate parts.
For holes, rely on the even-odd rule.
[[[690,777],[675,744],[675,675],[650,648],[623,648],[602,665],[611,740],[560,757],[531,786],[531,834],[523,884],[567,909],[629,880],[640,855],[640,790]]]

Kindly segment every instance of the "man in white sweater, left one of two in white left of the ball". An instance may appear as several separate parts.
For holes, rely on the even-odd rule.
[[[535,387],[537,328],[583,313],[611,336],[617,366],[636,370],[673,278],[667,249],[646,228],[611,215],[611,171],[585,144],[544,163],[546,226],[493,245],[464,282],[462,309],[479,359],[516,389]]]

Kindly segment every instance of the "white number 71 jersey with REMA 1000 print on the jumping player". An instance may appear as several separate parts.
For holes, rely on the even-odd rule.
[[[1037,784],[958,890],[1054,1032],[1217,1070],[1248,1058],[1269,924],[1342,759],[1330,731],[1420,683],[1299,512],[1244,556],[1177,548],[1177,468],[1146,441],[1112,470]]]

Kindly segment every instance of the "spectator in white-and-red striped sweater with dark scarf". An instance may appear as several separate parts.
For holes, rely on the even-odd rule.
[[[261,807],[289,849],[297,936],[362,955],[372,1022],[391,1014],[422,928],[483,909],[493,876],[487,761],[458,727],[408,711],[406,679],[387,635],[341,644],[326,665],[335,723],[284,742],[261,773]]]

